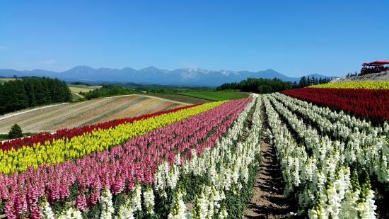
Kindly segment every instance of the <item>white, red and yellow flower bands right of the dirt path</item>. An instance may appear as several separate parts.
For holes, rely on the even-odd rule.
[[[299,209],[308,209],[310,218],[376,218],[377,212],[387,218],[389,82],[333,82],[281,93],[269,100],[298,135],[290,144],[305,145],[305,152],[286,156],[285,165],[296,172],[288,189]]]

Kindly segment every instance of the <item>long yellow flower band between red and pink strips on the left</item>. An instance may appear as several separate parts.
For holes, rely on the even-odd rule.
[[[56,164],[69,159],[77,159],[93,152],[107,150],[115,145],[120,145],[132,137],[170,125],[184,118],[209,111],[220,106],[226,101],[205,103],[200,106],[186,108],[173,113],[154,116],[144,120],[117,125],[115,128],[95,130],[93,133],[84,134],[68,139],[45,142],[45,145],[23,147],[18,150],[0,150],[0,173],[11,174],[15,171],[25,172],[28,167],[37,168],[40,164]]]

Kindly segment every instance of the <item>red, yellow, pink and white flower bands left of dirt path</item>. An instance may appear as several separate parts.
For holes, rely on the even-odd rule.
[[[255,176],[260,105],[257,97],[204,103],[13,141],[0,155],[0,209],[7,218],[243,213],[228,205],[248,198],[240,191]],[[240,141],[248,113],[255,123]]]

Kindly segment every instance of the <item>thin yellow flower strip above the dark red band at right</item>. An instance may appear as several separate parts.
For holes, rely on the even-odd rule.
[[[335,88],[335,89],[389,89],[389,81],[383,82],[331,82],[308,86],[311,88]]]

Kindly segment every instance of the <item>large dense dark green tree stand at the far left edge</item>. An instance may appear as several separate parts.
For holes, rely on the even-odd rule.
[[[46,77],[25,77],[0,84],[0,115],[23,108],[71,101],[65,82]]]

